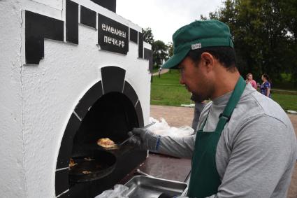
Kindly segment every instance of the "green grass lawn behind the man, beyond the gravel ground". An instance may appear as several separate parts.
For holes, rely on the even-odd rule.
[[[166,106],[193,103],[190,100],[191,93],[180,85],[179,79],[178,70],[164,73],[161,78],[153,76],[150,103]],[[297,93],[273,91],[271,95],[284,110],[297,111]]]

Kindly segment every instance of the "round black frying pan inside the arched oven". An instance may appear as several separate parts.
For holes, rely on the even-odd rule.
[[[94,181],[107,176],[113,172],[117,161],[115,155],[105,150],[94,150],[92,155],[82,155],[72,159],[76,165],[69,169],[69,180],[75,183]]]

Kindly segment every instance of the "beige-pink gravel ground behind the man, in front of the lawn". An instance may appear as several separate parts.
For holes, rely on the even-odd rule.
[[[183,125],[191,126],[194,108],[175,107],[175,106],[150,106],[150,115],[153,118],[164,118],[168,125],[172,127],[181,127]],[[297,136],[297,115],[288,114],[294,126]],[[295,164],[294,174],[288,192],[288,198],[297,197],[297,163]]]

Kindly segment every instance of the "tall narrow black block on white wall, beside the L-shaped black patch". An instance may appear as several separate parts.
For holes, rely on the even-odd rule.
[[[78,3],[66,0],[66,41],[78,44]]]

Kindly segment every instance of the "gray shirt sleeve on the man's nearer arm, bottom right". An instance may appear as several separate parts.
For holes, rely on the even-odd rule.
[[[280,120],[264,115],[249,122],[232,141],[222,184],[211,197],[271,197],[278,183],[288,182],[284,173],[289,171],[289,177],[293,169],[290,142],[288,129]]]

